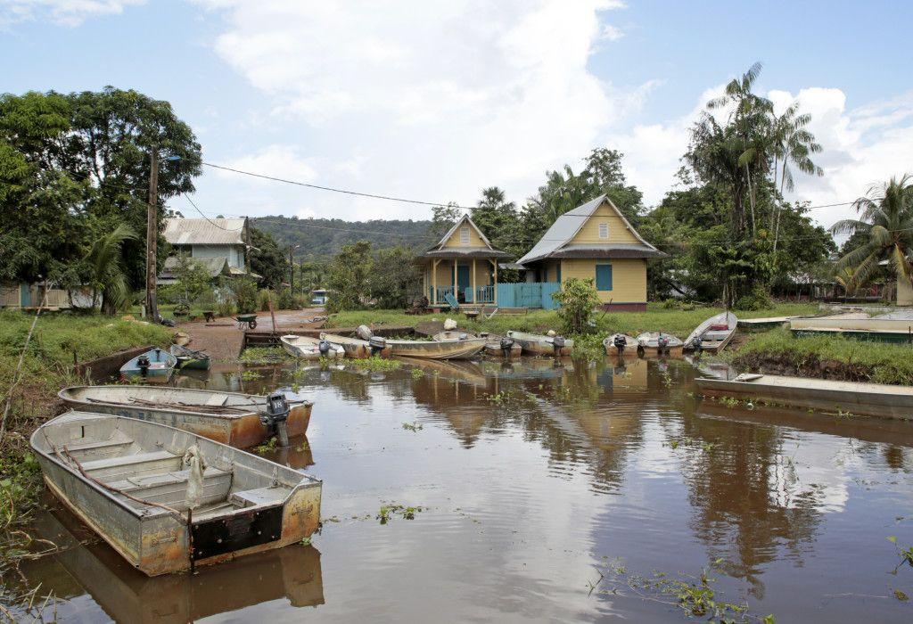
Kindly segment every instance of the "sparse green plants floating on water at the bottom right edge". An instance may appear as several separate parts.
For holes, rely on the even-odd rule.
[[[718,559],[713,565],[719,565]],[[712,568],[712,566],[711,566]],[[762,622],[774,624],[772,615],[756,616],[749,612],[744,602],[726,602],[719,598],[721,592],[713,588],[715,578],[709,576],[707,568],[701,569],[699,577],[671,577],[665,572],[654,572],[645,577],[628,572],[622,561],[616,559],[604,567],[597,567],[599,578],[587,581],[590,595],[624,595],[625,590],[645,600],[677,606],[686,618],[701,618],[714,622]]]

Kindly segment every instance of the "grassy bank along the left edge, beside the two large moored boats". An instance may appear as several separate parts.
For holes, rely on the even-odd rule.
[[[0,413],[32,319],[21,312],[0,311]],[[5,439],[0,440],[0,534],[25,521],[35,504],[40,475],[28,450],[28,436],[60,410],[58,390],[79,381],[72,373],[73,354],[84,361],[125,348],[164,346],[170,340],[167,328],[110,317],[47,313],[38,318],[26,350],[22,380],[12,392]],[[0,543],[0,551],[4,548]]]

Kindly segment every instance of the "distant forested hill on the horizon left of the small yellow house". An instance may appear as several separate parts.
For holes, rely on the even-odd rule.
[[[335,255],[343,244],[368,240],[376,248],[406,244],[414,249],[435,241],[428,234],[430,221],[342,221],[341,219],[299,219],[265,216],[251,219],[257,229],[276,237],[279,247],[288,251],[289,244],[300,245],[296,257]]]

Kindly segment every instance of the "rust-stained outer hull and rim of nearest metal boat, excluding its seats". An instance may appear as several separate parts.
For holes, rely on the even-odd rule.
[[[182,450],[194,444],[211,464],[218,464],[220,470],[243,473],[243,477],[232,477],[232,483],[243,478],[255,479],[261,487],[268,486],[270,477],[267,475],[272,474],[274,480],[278,475],[285,484],[281,487],[286,487],[289,493],[276,504],[252,504],[249,509],[240,507],[231,513],[204,514],[190,524],[182,510],[177,510],[178,515],[160,507],[131,503],[123,494],[113,491],[113,486],[89,480],[75,467],[63,463],[57,454],[59,447],[56,451],[51,450],[51,440],[57,438],[53,432],[52,437],[47,437],[49,426],[64,428],[65,440],[73,444],[79,442],[79,427],[88,437],[87,432],[93,428],[110,427],[106,421],[118,420],[102,414],[69,412],[42,425],[33,434],[31,445],[51,493],[144,574],[152,577],[181,572],[193,566],[211,565],[288,546],[310,536],[320,524],[320,481],[171,427],[138,422],[136,426],[127,426],[134,432],[149,428],[142,433],[151,436],[153,441],[160,440],[164,448],[173,449],[176,462],[180,462]],[[68,427],[73,431],[67,431]],[[58,440],[58,443],[62,442]],[[82,462],[85,465],[86,460]],[[152,498],[151,494],[146,495]]]

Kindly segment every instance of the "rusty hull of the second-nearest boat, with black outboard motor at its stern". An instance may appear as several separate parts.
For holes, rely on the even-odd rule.
[[[140,421],[149,421],[163,424],[185,432],[202,435],[205,438],[246,449],[265,442],[273,432],[260,421],[259,411],[248,411],[241,414],[213,414],[190,410],[178,410],[170,407],[155,407],[152,405],[124,404],[123,402],[104,402],[100,400],[79,400],[73,396],[70,388],[58,392],[58,397],[69,408],[79,411],[91,411],[112,416],[135,418]],[[142,389],[137,389],[142,390]],[[206,390],[194,390],[205,393]],[[228,392],[212,392],[212,394],[231,394]],[[250,396],[250,395],[239,395]],[[266,405],[266,397],[262,397]],[[289,437],[304,435],[308,432],[310,424],[310,411],[312,403],[292,403],[289,405],[289,419],[286,428]]]

